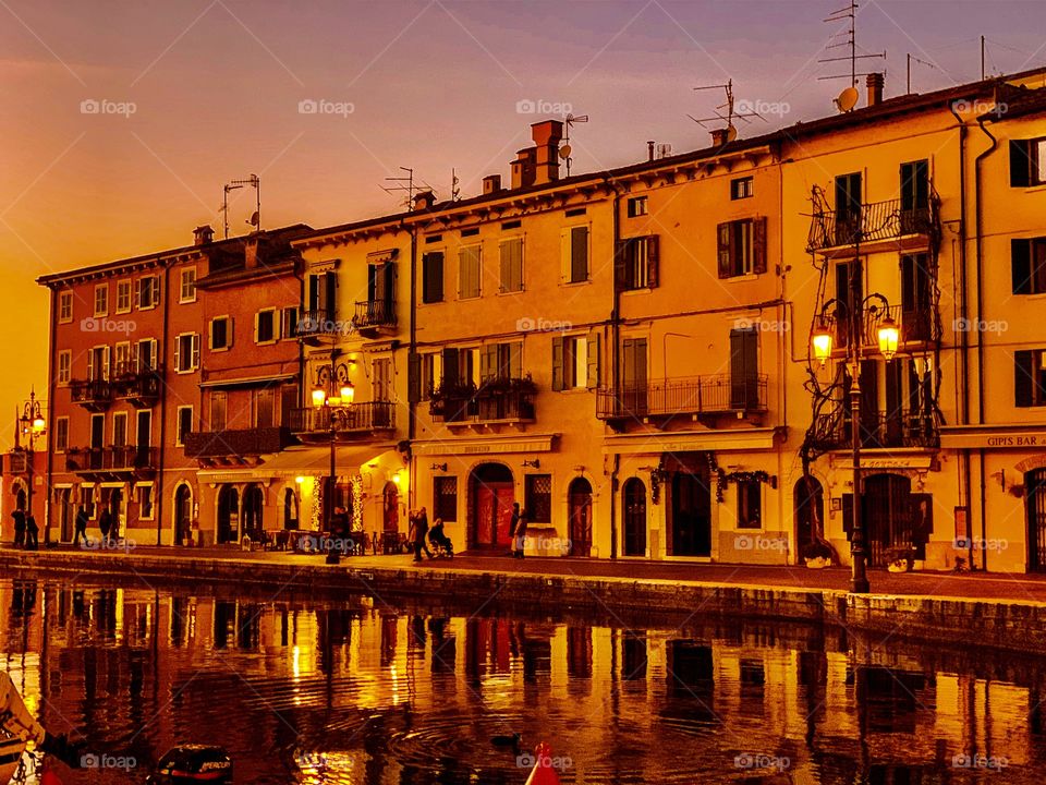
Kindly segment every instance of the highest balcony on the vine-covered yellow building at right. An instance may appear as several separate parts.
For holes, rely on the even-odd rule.
[[[815,213],[806,251],[825,256],[844,255],[859,242],[867,253],[924,249],[939,231],[936,194],[927,205],[911,209],[902,209],[899,198],[874,202],[846,213]]]

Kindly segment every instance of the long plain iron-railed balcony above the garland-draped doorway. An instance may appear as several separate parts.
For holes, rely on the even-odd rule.
[[[743,415],[766,411],[766,374],[730,374],[654,379],[596,392],[600,420],[645,420],[677,415]]]

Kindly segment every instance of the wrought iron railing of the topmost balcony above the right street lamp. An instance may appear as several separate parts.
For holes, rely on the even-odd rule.
[[[909,235],[931,237],[937,230],[936,198],[925,206],[903,209],[901,200],[873,202],[850,210],[820,212],[813,216],[806,251],[896,240]]]

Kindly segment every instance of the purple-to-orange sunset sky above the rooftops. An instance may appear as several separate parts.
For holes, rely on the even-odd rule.
[[[849,63],[846,0],[0,0],[0,445],[46,391],[37,276],[221,235],[222,186],[262,182],[262,224],[314,227],[394,212],[413,168],[439,198],[509,176],[530,123],[587,116],[573,172],[707,146],[733,81],[764,120],[831,113]],[[861,2],[858,44],[886,96],[1046,63],[1039,0]],[[836,36],[836,37],[834,37]],[[394,184],[394,183],[391,183]],[[253,192],[233,192],[232,233]]]

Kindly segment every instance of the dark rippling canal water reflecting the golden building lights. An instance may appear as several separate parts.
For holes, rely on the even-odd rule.
[[[0,580],[0,667],[143,783],[180,742],[238,783],[1041,783],[1046,662],[798,623],[499,600]],[[1014,633],[1019,635],[1019,633]],[[519,733],[520,750],[492,738]],[[26,780],[33,782],[33,777]]]

